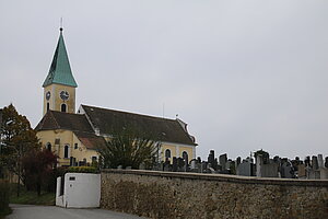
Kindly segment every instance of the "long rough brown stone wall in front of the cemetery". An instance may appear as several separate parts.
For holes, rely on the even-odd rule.
[[[328,218],[328,181],[102,172],[101,207],[149,218]]]

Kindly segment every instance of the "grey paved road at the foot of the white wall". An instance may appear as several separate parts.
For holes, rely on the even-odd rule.
[[[103,209],[67,209],[55,206],[10,205],[5,219],[137,219],[140,217]]]

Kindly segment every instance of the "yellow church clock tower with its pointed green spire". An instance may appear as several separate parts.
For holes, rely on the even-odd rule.
[[[75,88],[78,84],[72,74],[65,47],[62,27],[60,27],[58,44],[43,88],[44,115],[49,110],[75,113]]]

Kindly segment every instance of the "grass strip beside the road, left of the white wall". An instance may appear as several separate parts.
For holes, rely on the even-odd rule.
[[[20,197],[17,197],[16,185],[12,186],[10,194],[10,203],[11,204],[22,204],[22,205],[46,205],[52,206],[55,205],[55,193],[42,192],[40,196],[37,196],[35,191],[26,191],[25,187],[20,188]]]

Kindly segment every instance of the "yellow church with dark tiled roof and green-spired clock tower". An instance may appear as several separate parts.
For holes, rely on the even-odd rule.
[[[195,159],[196,140],[183,120],[154,117],[97,106],[80,105],[75,112],[74,80],[62,28],[49,72],[43,83],[43,118],[36,126],[43,147],[58,155],[59,166],[90,165],[98,161],[97,147],[106,143],[115,131],[132,125],[156,136],[159,160],[173,157]]]

